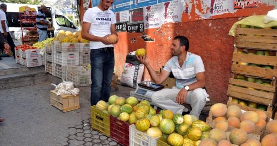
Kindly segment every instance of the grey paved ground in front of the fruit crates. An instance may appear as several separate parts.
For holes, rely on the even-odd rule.
[[[112,94],[128,97],[134,90],[119,88]],[[91,129],[88,97],[80,97],[80,109],[63,113],[50,105],[53,89],[45,82],[0,90],[0,117],[5,119],[0,123],[0,145],[118,145]]]

